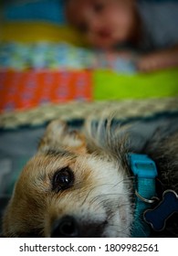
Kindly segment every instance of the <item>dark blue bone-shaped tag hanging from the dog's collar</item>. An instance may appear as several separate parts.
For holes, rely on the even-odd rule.
[[[144,212],[144,220],[152,225],[152,229],[162,231],[166,219],[169,219],[174,212],[178,212],[178,196],[173,190],[166,190],[160,204]]]

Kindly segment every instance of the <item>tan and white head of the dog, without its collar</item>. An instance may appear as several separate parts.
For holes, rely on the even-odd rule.
[[[5,237],[131,235],[125,166],[109,149],[114,137],[96,133],[68,131],[58,121],[48,125],[5,211]]]

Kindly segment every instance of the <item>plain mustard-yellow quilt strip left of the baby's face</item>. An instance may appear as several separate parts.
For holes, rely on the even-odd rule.
[[[9,22],[1,26],[0,40],[16,42],[36,42],[47,40],[50,42],[66,41],[84,46],[81,35],[68,26],[58,26],[47,22]]]

